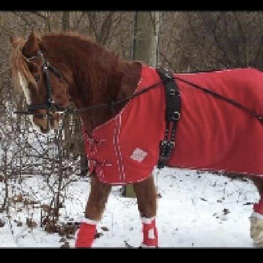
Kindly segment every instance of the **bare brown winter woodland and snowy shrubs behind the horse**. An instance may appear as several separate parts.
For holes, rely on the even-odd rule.
[[[86,159],[80,123],[67,116],[59,132],[39,134],[26,116],[15,110],[25,107],[24,97],[11,85],[9,36],[27,37],[36,31],[77,31],[109,47],[127,60],[145,61],[176,72],[216,68],[263,69],[263,12],[0,12],[0,212],[16,202],[33,204],[13,182],[41,175],[52,193],[49,204],[40,204],[59,218],[66,187],[86,175]],[[30,203],[31,202],[31,203]],[[37,204],[36,204],[37,205]],[[46,206],[45,206],[46,205]],[[43,219],[43,220],[42,220]],[[27,223],[32,225],[32,220]],[[53,229],[54,230],[54,229]],[[55,231],[55,230],[54,230]]]

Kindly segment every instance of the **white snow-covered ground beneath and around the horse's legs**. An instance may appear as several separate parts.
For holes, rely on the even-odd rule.
[[[169,168],[155,170],[154,175],[161,194],[156,219],[160,247],[253,247],[249,216],[251,203],[259,200],[253,183]],[[3,183],[0,187],[3,189]],[[51,193],[42,177],[24,179],[12,192],[19,193],[19,187],[27,198],[48,204]],[[78,221],[84,215],[89,191],[89,178],[68,186],[61,221]],[[40,228],[39,208],[16,203],[9,214],[8,218],[5,212],[0,213],[0,221],[4,223],[0,227],[0,247],[61,247],[63,244],[58,233],[49,234]],[[27,227],[27,217],[33,218],[37,226]],[[22,222],[22,226],[17,226],[17,222]],[[120,197],[120,187],[113,187],[97,230],[102,235],[95,240],[94,247],[125,247],[124,241],[140,246],[141,221],[136,199]],[[67,242],[74,247],[74,239]]]

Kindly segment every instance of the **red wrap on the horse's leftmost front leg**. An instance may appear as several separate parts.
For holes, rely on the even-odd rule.
[[[91,248],[95,234],[96,224],[81,222],[76,232],[75,248]]]

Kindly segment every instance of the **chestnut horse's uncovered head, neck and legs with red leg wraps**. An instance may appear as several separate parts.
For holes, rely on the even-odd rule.
[[[37,34],[32,30],[27,40],[11,37],[10,41],[14,84],[22,88],[29,105],[43,105],[51,92],[56,105],[64,108],[73,104],[77,109],[81,109],[119,101],[131,96],[140,81],[141,63],[125,61],[105,47],[76,33]],[[47,89],[47,79],[42,67],[44,60],[54,66],[48,76],[52,90]],[[92,134],[96,127],[114,118],[125,106],[124,102],[112,107],[90,108],[89,111],[81,112],[82,125],[87,134]],[[46,114],[47,109],[36,107],[32,116],[33,125],[44,133],[56,128],[59,120],[56,111],[49,112],[53,117],[52,121],[42,118]],[[260,202],[254,205],[251,217],[251,237],[256,246],[263,246],[263,180],[261,177],[250,179],[261,196]],[[153,176],[133,183],[133,189],[142,220],[142,245],[157,247],[156,191]],[[85,218],[76,233],[76,247],[92,246],[96,224],[101,220],[110,191],[111,184],[101,182],[93,172]]]

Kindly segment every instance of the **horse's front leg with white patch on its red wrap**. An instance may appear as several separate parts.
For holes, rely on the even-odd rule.
[[[153,176],[133,184],[137,197],[138,210],[142,221],[143,242],[142,246],[157,247],[158,234],[155,226],[156,216],[156,190]]]

